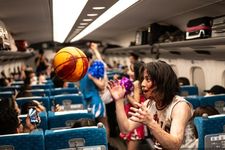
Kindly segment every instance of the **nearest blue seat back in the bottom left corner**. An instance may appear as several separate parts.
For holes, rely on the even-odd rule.
[[[0,149],[4,150],[44,150],[42,130],[31,133],[0,135]]]

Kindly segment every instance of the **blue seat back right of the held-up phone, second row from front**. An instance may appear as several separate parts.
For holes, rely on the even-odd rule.
[[[68,128],[72,127],[74,122],[81,118],[94,119],[92,113],[87,110],[48,112],[48,127],[51,128]]]

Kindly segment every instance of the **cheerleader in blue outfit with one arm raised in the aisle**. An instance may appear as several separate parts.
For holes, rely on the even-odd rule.
[[[101,54],[98,51],[98,45],[96,43],[90,43],[89,50],[84,51],[85,55],[88,58],[89,67],[91,66],[93,60],[100,60],[103,62]],[[95,58],[95,59],[94,59]],[[103,62],[104,63],[104,62]],[[105,70],[107,65],[105,65]],[[109,137],[109,125],[105,110],[105,104],[101,98],[100,93],[105,93],[105,87],[107,83],[106,73],[103,78],[95,78],[91,74],[86,73],[86,75],[80,80],[80,90],[84,95],[87,104],[92,109],[92,113],[95,116],[97,122],[102,122],[106,128],[107,136]],[[110,144],[108,144],[109,150],[115,149]]]

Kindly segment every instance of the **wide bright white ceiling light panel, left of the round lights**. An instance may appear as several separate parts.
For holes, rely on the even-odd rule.
[[[53,0],[53,39],[64,42],[88,0]]]

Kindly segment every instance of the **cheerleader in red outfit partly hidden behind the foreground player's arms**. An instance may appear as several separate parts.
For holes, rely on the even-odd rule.
[[[128,112],[130,111],[130,107],[138,107],[136,103],[143,103],[145,98],[144,95],[141,92],[141,85],[139,82],[140,73],[139,69],[144,65],[144,63],[136,61],[134,62],[133,71],[134,71],[134,79],[133,79],[133,85],[134,90],[130,95],[127,95],[127,100],[125,100],[125,111],[126,115],[129,117]],[[127,149],[128,150],[137,150],[138,144],[140,140],[144,138],[144,125],[139,126],[138,128],[135,128],[133,131],[124,134],[120,133],[120,137],[126,140],[127,142]]]

